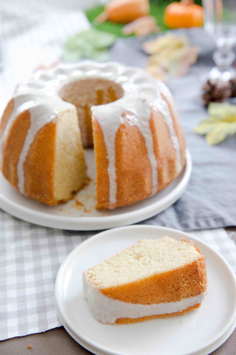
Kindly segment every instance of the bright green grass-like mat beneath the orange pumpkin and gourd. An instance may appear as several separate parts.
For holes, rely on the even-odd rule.
[[[150,0],[150,15],[156,17],[157,23],[161,29],[161,31],[165,31],[168,29],[163,21],[163,15],[165,8],[168,4],[173,2],[172,0]],[[201,0],[196,0],[196,4],[201,5]],[[95,18],[103,12],[103,6],[96,6],[92,9],[86,11],[86,15],[88,20],[91,22],[92,26],[105,32],[113,33],[117,37],[124,37],[122,34],[123,24],[116,24],[110,21],[106,21],[104,23],[97,24],[94,20]]]

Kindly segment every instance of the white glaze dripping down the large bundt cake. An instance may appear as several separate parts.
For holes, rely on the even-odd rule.
[[[23,193],[24,160],[35,134],[42,126],[53,120],[59,111],[73,106],[59,98],[59,90],[71,81],[86,77],[102,77],[113,80],[119,83],[124,90],[124,96],[121,99],[110,104],[92,107],[93,118],[99,121],[107,146],[110,208],[114,207],[116,203],[115,135],[120,124],[124,121],[137,126],[145,138],[152,169],[152,194],[155,194],[158,190],[158,176],[149,125],[151,108],[161,111],[176,150],[178,171],[182,168],[180,147],[173,120],[161,93],[174,107],[172,95],[165,84],[158,82],[141,69],[125,67],[116,62],[98,64],[91,61],[84,61],[75,65],[62,64],[51,70],[37,71],[27,83],[17,86],[16,95],[13,98],[14,110],[0,140],[0,146],[2,147],[4,144],[11,125],[18,114],[29,109],[31,125],[17,167],[19,190]],[[110,120],[112,120],[112,123]]]

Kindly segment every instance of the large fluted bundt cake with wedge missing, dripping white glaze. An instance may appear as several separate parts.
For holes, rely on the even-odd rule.
[[[85,184],[83,146],[92,144],[98,209],[154,195],[185,165],[165,84],[141,69],[85,61],[17,86],[0,125],[1,171],[19,192],[55,205]]]

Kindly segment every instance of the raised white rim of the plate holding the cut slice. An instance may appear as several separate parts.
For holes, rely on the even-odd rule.
[[[212,249],[212,247],[210,247],[208,244],[201,241],[200,239],[198,239],[195,236],[192,236],[188,233],[185,233],[185,232],[182,232],[179,230],[166,228],[166,227],[151,226],[151,225],[125,226],[125,227],[120,227],[120,228],[115,228],[115,229],[110,229],[107,231],[100,232],[100,233],[94,235],[93,237],[90,237],[88,240],[82,242],[79,246],[77,246],[68,255],[68,257],[65,259],[65,261],[63,262],[63,264],[61,265],[61,267],[58,271],[56,283],[55,283],[55,288],[54,288],[54,302],[56,305],[58,317],[59,317],[60,321],[62,322],[63,326],[68,331],[68,333],[71,335],[71,337],[73,337],[76,340],[76,342],[80,343],[87,350],[92,351],[96,355],[101,355],[101,354],[132,355],[133,352],[126,353],[126,352],[119,352],[119,351],[115,351],[115,350],[112,351],[105,346],[97,344],[96,342],[91,340],[89,336],[81,334],[79,331],[77,331],[77,329],[74,327],[73,322],[71,322],[71,320],[70,320],[70,317],[67,313],[67,309],[63,306],[63,299],[61,297],[62,288],[60,286],[60,284],[62,284],[61,280],[64,277],[65,272],[67,271],[68,267],[70,267],[70,268],[73,267],[73,263],[72,263],[73,259],[74,258],[80,259],[82,257],[82,255],[84,255],[83,254],[84,249],[85,249],[85,251],[86,251],[86,249],[89,249],[89,250],[92,250],[93,248],[96,249],[100,244],[102,244],[102,245],[104,244],[104,238],[108,237],[109,241],[110,241],[112,238],[114,239],[116,234],[119,236],[120,233],[128,232],[128,234],[132,234],[132,233],[139,233],[140,231],[142,231],[142,233],[148,234],[148,230],[151,233],[154,233],[154,231],[155,231],[155,233],[157,233],[157,238],[162,237],[165,234],[166,235],[168,234],[169,236],[176,237],[177,239],[180,239],[181,237],[183,237],[185,239],[193,240],[196,243],[197,247],[202,251],[203,254],[204,254],[204,250],[205,250],[205,252],[210,253],[211,257],[214,257],[214,259],[217,260],[217,262],[221,263],[221,265],[223,266],[223,271],[224,271],[225,275],[228,275],[228,277],[230,278],[230,280],[232,282],[232,285],[234,288],[234,294],[236,295],[236,276],[235,276],[234,272],[232,271],[228,262],[217,251]],[[162,233],[162,235],[158,236],[158,233]],[[120,247],[117,247],[117,248],[120,250]],[[117,250],[117,251],[119,251],[119,250]],[[88,256],[88,257],[91,257],[91,256]],[[207,260],[207,257],[206,257],[206,262],[209,262],[209,260]],[[93,265],[93,263],[94,262],[91,261],[91,266]],[[211,342],[208,342],[204,346],[199,346],[198,349],[195,348],[192,351],[188,350],[188,353],[185,353],[185,352],[183,352],[181,354],[178,353],[178,355],[208,355],[209,353],[211,353],[212,351],[217,349],[221,344],[223,344],[225,342],[225,340],[230,336],[230,334],[234,331],[234,328],[236,326],[236,302],[234,305],[230,304],[230,307],[231,307],[231,313],[230,313],[230,316],[228,317],[229,318],[228,321],[225,322],[225,324],[223,324],[223,326],[222,326],[222,324],[220,324],[220,331],[218,331],[218,333],[215,334],[214,337],[212,336]],[[201,307],[199,309],[201,309]],[[90,312],[89,309],[88,309],[88,311]],[[192,313],[192,312],[190,312],[190,313]],[[179,319],[180,319],[184,316],[185,315],[180,315],[177,317],[179,317]],[[174,317],[159,318],[159,320],[163,320],[163,319],[169,320],[171,318],[173,319]],[[96,321],[96,322],[98,322],[98,321]],[[139,325],[141,324],[140,327],[142,327],[142,324],[145,324],[148,322],[150,322],[150,321],[134,323],[134,324],[139,324]],[[115,327],[115,328],[120,327],[120,326],[113,326],[113,325],[109,325],[109,326]],[[130,326],[131,325],[128,325],[128,327],[130,327]],[[201,343],[201,341],[199,343]],[[167,353],[165,353],[165,349],[162,349],[162,350],[163,350],[162,355],[167,354]],[[144,350],[143,354],[145,354],[145,350]],[[174,355],[174,352],[171,354]]]

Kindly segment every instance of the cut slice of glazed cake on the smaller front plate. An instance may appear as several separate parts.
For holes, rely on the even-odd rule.
[[[205,257],[194,242],[142,239],[83,273],[84,296],[102,323],[169,317],[200,307]]]

